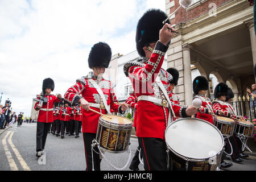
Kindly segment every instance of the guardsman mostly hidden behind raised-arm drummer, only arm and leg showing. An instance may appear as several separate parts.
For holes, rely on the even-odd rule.
[[[137,118],[137,105],[138,105],[138,98],[135,95],[134,91],[130,93],[130,96],[127,98],[127,100],[125,101],[125,103],[127,105],[129,105],[129,107],[131,109],[134,109],[134,117],[133,117],[133,127],[136,131],[136,118]],[[133,171],[139,171],[139,163],[141,163],[139,161],[139,154],[142,154],[141,152],[141,147],[137,147],[137,150],[134,154],[133,160],[131,160],[131,164],[129,166],[129,169],[133,170]]]

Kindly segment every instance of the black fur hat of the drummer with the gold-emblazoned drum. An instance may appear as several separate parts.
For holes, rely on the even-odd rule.
[[[108,44],[99,42],[94,44],[90,50],[88,57],[89,68],[93,67],[109,67],[109,63],[112,57],[112,51]]]

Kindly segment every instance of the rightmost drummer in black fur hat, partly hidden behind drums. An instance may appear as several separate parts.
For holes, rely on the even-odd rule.
[[[226,96],[226,102],[225,102],[226,107],[225,108],[227,111],[229,111],[229,113],[233,114],[234,118],[245,121],[244,117],[242,117],[240,115],[236,115],[236,109],[234,109],[233,105],[231,104],[233,101],[233,97],[234,97],[234,93],[233,93],[232,89],[228,88],[228,94]],[[232,158],[233,162],[241,164],[243,161],[240,158],[247,158],[247,157],[249,157],[249,155],[243,154],[242,142],[241,142],[240,138],[238,138],[236,136],[236,134],[233,133],[233,136],[230,137],[229,140],[230,140],[230,143],[232,144],[232,148],[233,148],[233,154],[231,155],[231,158]],[[231,151],[231,148],[228,147],[228,152],[230,152],[230,151]]]

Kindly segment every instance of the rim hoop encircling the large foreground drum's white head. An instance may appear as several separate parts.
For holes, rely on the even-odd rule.
[[[187,119],[193,119],[193,120],[200,120],[200,121],[203,121],[209,125],[212,125],[217,131],[218,133],[220,134],[221,138],[222,138],[222,146],[221,146],[221,149],[220,151],[218,151],[216,154],[212,155],[212,156],[209,156],[208,158],[201,158],[201,159],[195,159],[195,158],[189,158],[187,156],[184,156],[184,155],[181,155],[179,154],[178,152],[174,151],[170,146],[169,144],[166,142],[166,145],[167,145],[167,148],[170,149],[172,152],[174,152],[175,155],[179,156],[180,158],[184,159],[184,160],[188,160],[188,161],[191,161],[191,162],[202,162],[202,161],[206,161],[206,160],[209,160],[210,158],[213,158],[215,156],[218,156],[221,154],[222,150],[224,150],[224,137],[222,135],[222,133],[220,132],[220,130],[218,130],[218,128],[216,126],[214,126],[212,123],[209,123],[208,121],[205,121],[203,119],[199,119],[199,118],[180,118],[180,119],[177,119],[176,121],[172,122],[170,125],[167,126],[166,128],[166,131],[168,130],[169,127],[171,127],[171,125],[173,125],[174,123],[176,122],[179,122],[181,120],[187,120]],[[164,132],[164,138],[166,138],[166,131]]]

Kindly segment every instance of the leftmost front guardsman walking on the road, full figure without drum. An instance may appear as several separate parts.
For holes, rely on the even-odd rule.
[[[36,123],[36,156],[39,158],[46,145],[46,138],[50,124],[53,122],[53,103],[61,101],[61,94],[54,96],[51,92],[54,89],[54,81],[51,78],[43,80],[42,97],[47,98],[47,102],[42,105],[39,102],[35,104],[35,110],[39,110],[38,122]],[[38,97],[40,99],[40,96]]]

